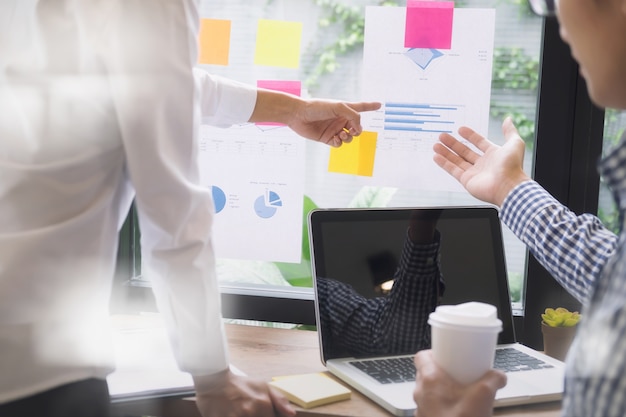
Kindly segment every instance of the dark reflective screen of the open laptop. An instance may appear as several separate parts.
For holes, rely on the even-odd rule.
[[[429,348],[430,311],[466,301],[495,305],[515,341],[495,208],[320,209],[309,231],[324,361]]]

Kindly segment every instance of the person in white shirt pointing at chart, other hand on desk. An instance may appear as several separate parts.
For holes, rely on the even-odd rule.
[[[0,4],[0,415],[107,415],[108,302],[133,198],[145,273],[203,416],[293,415],[265,382],[228,370],[200,111],[338,146],[379,104],[203,74],[196,85],[197,27],[195,0]]]

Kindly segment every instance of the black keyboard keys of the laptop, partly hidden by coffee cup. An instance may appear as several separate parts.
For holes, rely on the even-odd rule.
[[[412,356],[351,361],[350,365],[365,372],[381,384],[415,381],[415,365]],[[552,368],[552,365],[517,349],[503,348],[496,350],[494,368],[503,372],[520,372]]]

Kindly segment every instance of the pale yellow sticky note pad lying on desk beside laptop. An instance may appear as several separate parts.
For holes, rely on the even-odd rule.
[[[270,385],[302,408],[350,399],[351,391],[322,373],[274,378]]]

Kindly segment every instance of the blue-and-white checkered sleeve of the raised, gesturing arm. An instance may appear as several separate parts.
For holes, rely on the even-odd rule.
[[[617,236],[600,219],[576,215],[535,181],[511,191],[500,217],[570,294],[587,301],[617,246]]]

